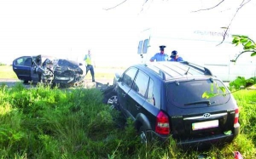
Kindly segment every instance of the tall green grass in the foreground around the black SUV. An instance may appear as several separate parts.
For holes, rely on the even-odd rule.
[[[170,138],[167,145],[142,145],[131,120],[102,104],[94,88],[59,89],[38,85],[0,87],[1,158],[234,158],[238,150],[253,158],[255,91],[236,92],[241,134],[229,145],[184,150]]]

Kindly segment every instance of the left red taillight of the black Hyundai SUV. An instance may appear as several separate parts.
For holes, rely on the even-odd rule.
[[[155,132],[160,134],[170,133],[169,118],[162,111],[156,116]]]

